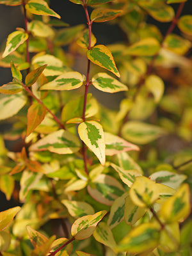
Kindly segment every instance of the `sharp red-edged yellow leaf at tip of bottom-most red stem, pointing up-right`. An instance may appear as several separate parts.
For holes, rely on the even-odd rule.
[[[71,234],[77,240],[83,240],[92,236],[95,227],[106,215],[107,211],[96,212],[93,215],[83,216],[77,219],[71,228]]]

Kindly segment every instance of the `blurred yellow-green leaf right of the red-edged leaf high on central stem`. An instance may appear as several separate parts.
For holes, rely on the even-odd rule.
[[[160,48],[161,47],[157,39],[148,37],[127,47],[124,51],[124,55],[154,56],[159,52]]]

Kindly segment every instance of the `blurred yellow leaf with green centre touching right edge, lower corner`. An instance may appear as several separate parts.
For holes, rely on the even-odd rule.
[[[189,185],[183,184],[180,189],[162,205],[159,218],[165,223],[184,221],[191,211]]]

